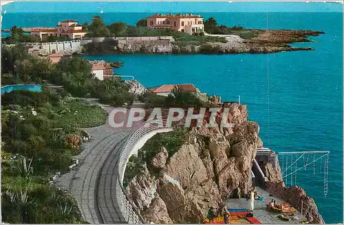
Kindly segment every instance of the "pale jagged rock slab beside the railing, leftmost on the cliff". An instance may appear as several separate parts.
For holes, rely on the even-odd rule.
[[[140,211],[148,208],[157,193],[158,180],[151,177],[147,167],[143,167],[140,175],[129,182],[127,193],[133,200],[133,203]]]

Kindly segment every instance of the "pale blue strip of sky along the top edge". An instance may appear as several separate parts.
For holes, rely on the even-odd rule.
[[[2,12],[343,12],[343,4],[323,2],[118,2],[21,1]]]

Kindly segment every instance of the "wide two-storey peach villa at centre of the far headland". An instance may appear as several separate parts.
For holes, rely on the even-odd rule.
[[[155,14],[147,17],[147,27],[172,29],[188,34],[204,32],[203,17],[193,14]]]

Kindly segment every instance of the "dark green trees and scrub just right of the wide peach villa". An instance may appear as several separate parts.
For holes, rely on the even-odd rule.
[[[264,32],[264,30],[246,29],[237,25],[234,25],[232,28],[228,28],[225,25],[218,26],[217,21],[213,17],[204,22],[204,30],[209,34],[234,34],[243,39],[252,39]]]

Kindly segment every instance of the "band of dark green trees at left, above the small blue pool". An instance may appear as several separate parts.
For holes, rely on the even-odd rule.
[[[1,80],[3,85],[19,83],[42,83],[49,80],[63,85],[63,94],[77,97],[99,98],[100,103],[115,106],[130,105],[133,95],[127,84],[120,81],[99,81],[92,74],[91,65],[80,56],[65,57],[54,65],[47,59],[30,56],[25,47],[17,44],[1,48]]]

